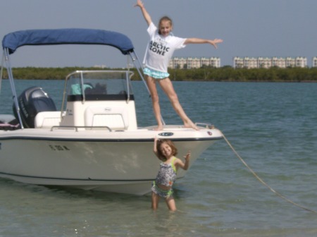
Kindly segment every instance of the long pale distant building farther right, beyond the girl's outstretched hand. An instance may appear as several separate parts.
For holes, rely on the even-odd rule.
[[[296,57],[296,58],[249,58],[249,57],[235,57],[233,58],[233,67],[234,68],[271,68],[273,66],[279,68],[287,68],[287,67],[299,67],[306,68],[307,67],[307,59],[306,57]]]

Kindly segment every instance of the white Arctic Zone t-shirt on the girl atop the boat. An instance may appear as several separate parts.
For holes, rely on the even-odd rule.
[[[144,56],[144,66],[156,71],[167,73],[168,62],[173,56],[175,49],[182,49],[186,46],[186,38],[175,37],[168,35],[162,37],[154,25],[151,23],[147,32],[150,36],[150,41],[147,44],[147,50]]]

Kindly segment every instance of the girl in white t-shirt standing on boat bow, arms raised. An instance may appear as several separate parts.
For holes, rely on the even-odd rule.
[[[143,14],[143,17],[149,28],[150,42],[147,45],[147,51],[144,56],[143,69],[144,74],[147,75],[147,85],[151,93],[152,105],[154,115],[158,123],[157,130],[163,130],[163,123],[161,121],[161,109],[159,105],[159,95],[156,90],[156,83],[159,83],[162,90],[170,99],[173,108],[176,113],[182,119],[185,128],[194,128],[198,130],[197,126],[187,117],[185,111],[182,109],[180,102],[178,101],[178,95],[176,94],[173,84],[168,78],[168,62],[173,56],[175,49],[182,49],[187,44],[211,44],[217,48],[217,44],[223,42],[222,39],[199,39],[199,38],[180,38],[170,35],[173,30],[173,23],[170,18],[163,16],[159,20],[159,29],[152,23],[151,16],[147,13],[144,4],[141,0],[137,0],[137,4]]]

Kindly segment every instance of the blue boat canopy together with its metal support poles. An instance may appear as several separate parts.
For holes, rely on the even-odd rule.
[[[0,88],[2,79],[2,68],[4,64],[8,72],[8,79],[11,85],[11,91],[13,95],[13,103],[15,104],[16,114],[18,115],[18,120],[21,128],[23,129],[23,123],[20,116],[20,107],[18,105],[18,97],[15,90],[15,84],[13,80],[13,73],[11,68],[10,54],[15,53],[15,51],[25,45],[57,45],[57,44],[99,44],[115,47],[121,51],[122,54],[130,56],[132,63],[137,72],[139,73],[147,91],[149,92],[149,87],[144,80],[142,71],[142,63],[140,63],[139,58],[134,50],[133,44],[126,35],[119,32],[113,32],[108,30],[94,30],[94,29],[79,29],[79,28],[69,28],[69,29],[51,29],[51,30],[20,30],[16,32],[8,33],[4,36],[2,40],[2,47],[4,49],[3,61],[1,65],[1,78],[0,78]],[[128,66],[128,68],[130,68]],[[149,92],[150,95],[150,92]],[[151,95],[150,95],[151,96]],[[163,118],[161,118],[163,124]]]

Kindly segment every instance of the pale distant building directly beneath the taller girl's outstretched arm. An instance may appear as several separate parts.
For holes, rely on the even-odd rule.
[[[201,68],[203,66],[209,66],[213,68],[220,68],[220,58],[217,57],[173,57],[170,59],[168,68]]]

